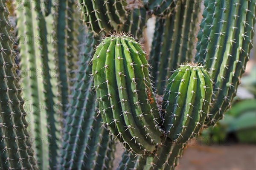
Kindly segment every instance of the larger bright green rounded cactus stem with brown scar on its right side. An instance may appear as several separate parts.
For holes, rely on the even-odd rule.
[[[128,150],[155,150],[161,143],[160,117],[139,43],[125,34],[106,37],[92,62],[103,122]]]

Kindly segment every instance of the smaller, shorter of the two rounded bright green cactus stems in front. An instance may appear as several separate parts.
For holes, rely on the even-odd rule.
[[[163,98],[163,127],[172,141],[195,137],[209,112],[212,82],[203,66],[181,65],[169,78]]]

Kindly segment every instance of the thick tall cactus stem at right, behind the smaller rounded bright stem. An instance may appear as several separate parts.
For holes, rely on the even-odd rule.
[[[212,0],[205,3],[196,60],[215,82],[207,124],[214,125],[230,107],[252,48],[255,1]]]

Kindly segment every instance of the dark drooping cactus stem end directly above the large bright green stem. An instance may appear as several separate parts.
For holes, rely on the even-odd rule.
[[[84,22],[94,35],[117,31],[127,19],[125,0],[79,0]]]

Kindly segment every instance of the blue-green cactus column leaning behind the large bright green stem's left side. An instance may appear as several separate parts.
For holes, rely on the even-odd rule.
[[[101,115],[96,113],[97,104],[93,100],[96,93],[92,91],[93,79],[90,77],[90,57],[99,41],[91,34],[82,33],[80,36],[83,36],[79,48],[82,61],[64,125],[60,168],[108,170],[113,166],[109,161],[113,159],[114,144],[109,138],[107,128],[102,126]]]

